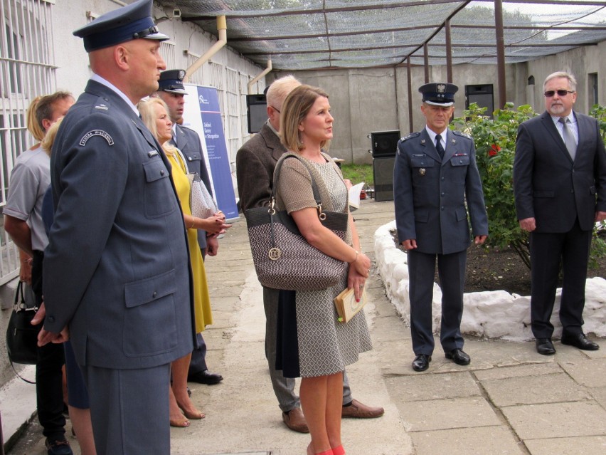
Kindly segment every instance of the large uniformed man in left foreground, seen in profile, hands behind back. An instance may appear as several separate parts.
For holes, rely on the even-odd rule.
[[[186,228],[170,164],[135,105],[158,88],[168,39],[152,0],[74,32],[94,73],[57,133],[55,219],[38,338],[69,337],[98,454],[168,454],[170,362],[193,349]]]

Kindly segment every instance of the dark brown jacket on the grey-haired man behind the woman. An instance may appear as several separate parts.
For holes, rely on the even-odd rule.
[[[235,155],[235,172],[242,210],[269,204],[277,160],[286,153],[267,123]]]

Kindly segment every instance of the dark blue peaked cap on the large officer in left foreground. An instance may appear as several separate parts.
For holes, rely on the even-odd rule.
[[[122,8],[102,14],[94,21],[74,31],[75,36],[84,38],[87,52],[108,48],[137,38],[169,39],[151,19],[154,0],[138,0]]]

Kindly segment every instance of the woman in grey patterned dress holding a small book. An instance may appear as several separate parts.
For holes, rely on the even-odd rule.
[[[363,311],[348,323],[339,323],[333,300],[344,288],[353,288],[356,299],[361,298],[371,261],[359,251],[351,214],[344,240],[319,219],[312,181],[319,190],[321,211],[349,213],[341,171],[323,151],[333,136],[328,95],[309,85],[295,88],[282,105],[280,125],[289,152],[277,164],[281,166],[275,182],[277,209],[292,216],[310,245],[349,263],[349,268],[335,286],[280,291],[277,369],[285,377],[302,377],[301,405],[312,436],[307,454],[342,455],[343,370],[372,345]]]

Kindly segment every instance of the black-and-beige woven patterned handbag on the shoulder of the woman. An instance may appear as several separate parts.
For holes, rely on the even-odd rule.
[[[274,289],[317,291],[330,288],[343,279],[349,264],[307,243],[292,216],[286,211],[275,210],[275,191],[283,162],[279,162],[274,171],[270,206],[248,209],[244,214],[257,278],[262,286]],[[349,214],[322,211],[317,184],[311,172],[309,175],[321,224],[344,240]]]

